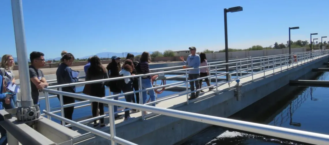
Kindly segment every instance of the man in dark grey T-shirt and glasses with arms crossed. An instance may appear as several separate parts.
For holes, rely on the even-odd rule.
[[[45,65],[44,54],[42,52],[33,51],[30,54],[30,61],[31,96],[33,103],[39,105],[39,90],[48,87],[43,72],[40,70],[40,68]]]

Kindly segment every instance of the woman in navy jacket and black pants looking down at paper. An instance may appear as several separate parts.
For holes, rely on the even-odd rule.
[[[56,71],[57,83],[59,85],[78,82],[78,78],[73,77],[72,70],[70,68],[70,66],[72,66],[73,64],[73,61],[74,61],[74,56],[72,53],[67,53],[66,51],[62,52],[61,64]],[[75,93],[75,86],[63,87],[62,91]],[[59,95],[57,95],[57,98],[60,99]],[[71,104],[74,102],[75,102],[74,98],[63,96],[64,105]],[[72,120],[73,111],[74,111],[74,106],[64,108],[64,117],[66,119]],[[72,129],[72,127],[69,127],[69,129]]]

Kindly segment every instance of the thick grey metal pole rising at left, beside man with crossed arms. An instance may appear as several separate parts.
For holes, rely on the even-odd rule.
[[[31,97],[31,85],[29,64],[26,50],[24,19],[23,19],[23,6],[22,0],[12,0],[12,13],[13,13],[13,25],[15,33],[16,54],[19,70],[19,83],[21,89],[21,106],[28,108],[33,106],[33,100]]]

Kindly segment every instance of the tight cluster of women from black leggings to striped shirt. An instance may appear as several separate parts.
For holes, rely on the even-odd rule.
[[[103,67],[102,63],[97,56],[92,56],[88,59],[88,64],[84,67],[84,71],[86,73],[86,81],[89,80],[99,80],[99,79],[106,79],[106,78],[115,78],[115,77],[122,77],[122,76],[131,76],[136,74],[147,74],[150,73],[149,69],[149,62],[151,60],[150,54],[148,52],[143,52],[140,57],[140,62],[135,61],[134,55],[128,53],[127,58],[124,61],[123,65],[121,66],[120,57],[112,56],[112,61],[107,65],[107,67]],[[142,89],[147,89],[152,87],[152,80],[151,76],[145,76],[141,79]],[[112,80],[108,82],[100,82],[100,83],[93,83],[90,86],[90,96],[95,97],[105,97],[105,86],[109,87],[110,92],[112,95],[118,95],[122,93],[138,91],[139,90],[139,78],[125,78],[119,80]],[[148,94],[150,95],[150,100],[155,101],[155,92],[154,90],[149,90]],[[136,95],[136,98],[135,98]],[[127,102],[139,102],[139,93],[124,95],[125,100]],[[114,100],[118,100],[119,97],[114,97]],[[142,93],[142,103],[146,103],[147,94],[146,92]],[[99,102],[92,102],[92,116],[96,117],[98,115],[104,114],[104,104]],[[155,106],[155,104],[152,104]],[[98,110],[99,109],[99,110]],[[127,108],[126,108],[127,109]],[[132,112],[139,112],[139,110],[132,109]],[[99,114],[98,114],[99,112]],[[117,106],[114,106],[114,112],[117,112]],[[144,114],[147,114],[144,111]],[[129,120],[132,119],[130,117],[130,111],[125,111],[124,116],[121,116],[117,113],[114,114],[115,119],[124,119]],[[104,119],[100,119],[101,127],[104,127]],[[94,127],[98,126],[99,124],[94,121]]]

